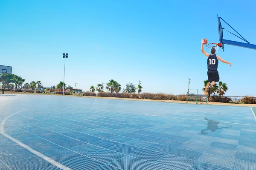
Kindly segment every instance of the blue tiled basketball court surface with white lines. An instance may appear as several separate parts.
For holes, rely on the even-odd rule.
[[[0,170],[256,170],[250,107],[6,94],[0,122]]]

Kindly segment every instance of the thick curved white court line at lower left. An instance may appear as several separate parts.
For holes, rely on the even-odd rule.
[[[23,110],[23,111],[27,111],[27,110],[30,110],[30,109],[26,109],[26,110]],[[11,139],[13,142],[19,144],[20,146],[24,147],[25,149],[29,150],[30,152],[34,153],[35,155],[41,157],[42,159],[46,160],[47,162],[55,165],[56,167],[59,167],[63,170],[71,170],[69,167],[66,167],[64,166],[63,164],[60,164],[58,163],[57,161],[54,161],[53,159],[50,159],[49,157],[47,156],[44,156],[42,153],[36,151],[36,150],[33,150],[31,147],[27,146],[26,144],[23,144],[22,142],[18,141],[17,139],[14,139],[12,136],[9,136],[7,135],[5,132],[4,132],[4,124],[6,122],[7,119],[9,119],[11,116],[17,114],[17,113],[20,113],[20,112],[23,112],[23,111],[18,111],[16,113],[13,113],[11,115],[9,115],[8,117],[6,117],[3,122],[1,122],[1,125],[0,125],[0,133],[3,135],[3,136],[6,136],[7,138]]]

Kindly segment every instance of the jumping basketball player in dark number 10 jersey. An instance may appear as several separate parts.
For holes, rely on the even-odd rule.
[[[208,75],[208,83],[205,87],[204,90],[204,95],[207,95],[207,93],[209,92],[209,89],[216,84],[216,82],[218,82],[220,80],[220,77],[218,75],[218,60],[220,60],[221,62],[224,62],[226,64],[229,64],[230,67],[232,67],[231,62],[227,62],[224,59],[222,59],[221,57],[219,57],[218,55],[215,54],[216,50],[215,48],[211,49],[211,54],[208,54],[206,51],[204,51],[204,42],[206,42],[204,39],[201,41],[201,51],[202,53],[207,57],[207,75]]]

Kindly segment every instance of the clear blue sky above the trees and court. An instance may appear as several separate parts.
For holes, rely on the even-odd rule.
[[[201,40],[218,42],[217,14],[256,44],[255,6],[253,0],[1,0],[0,65],[50,87],[63,81],[68,53],[65,83],[84,91],[114,79],[122,89],[141,80],[143,92],[186,94],[189,78],[191,89],[207,79]],[[224,38],[239,40],[227,31]],[[256,50],[224,47],[218,55],[233,64],[218,66],[226,95],[256,96]]]

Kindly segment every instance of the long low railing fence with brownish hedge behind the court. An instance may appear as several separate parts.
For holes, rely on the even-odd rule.
[[[60,94],[62,91],[40,91],[40,90],[21,90],[26,93]],[[3,93],[3,92],[2,92]],[[128,93],[93,93],[93,92],[74,92],[64,91],[64,95],[75,96],[98,96],[98,97],[117,97],[130,99],[151,99],[151,100],[177,100],[177,101],[195,101],[195,102],[222,102],[222,103],[244,103],[256,104],[256,97],[252,96],[205,96],[197,95],[173,95],[173,94],[128,94]]]

